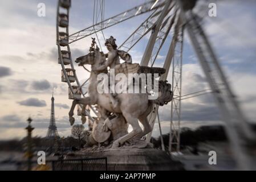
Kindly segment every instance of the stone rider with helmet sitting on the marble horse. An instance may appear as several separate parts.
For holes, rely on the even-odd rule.
[[[105,42],[105,46],[108,49],[108,53],[105,54],[107,60],[105,61],[105,63],[103,65],[101,65],[100,67],[96,68],[97,71],[102,71],[104,69],[106,69],[107,67],[109,67],[110,69],[114,69],[115,65],[120,64],[120,59],[119,57],[121,57],[121,59],[123,59],[125,61],[125,63],[132,63],[132,57],[131,55],[129,55],[129,53],[125,52],[125,51],[121,51],[121,50],[117,50],[117,46],[116,46],[116,39],[113,38],[113,36],[110,36],[109,39],[106,40]],[[109,77],[109,79],[112,79],[113,83],[115,83],[115,77]],[[109,80],[109,82],[111,82]],[[111,85],[109,85],[109,88],[111,89]],[[113,92],[114,90],[112,90]],[[115,93],[110,93],[108,94],[113,108],[117,107],[118,105],[118,101],[116,98],[116,94]]]

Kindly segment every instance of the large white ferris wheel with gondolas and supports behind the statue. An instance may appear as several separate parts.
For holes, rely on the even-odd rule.
[[[247,166],[245,166],[245,161],[248,160],[248,156],[245,154],[246,152],[243,150],[243,147],[241,147],[243,142],[245,142],[242,138],[251,139],[255,136],[251,132],[251,129],[235,100],[233,91],[226,81],[224,71],[218,63],[217,56],[201,27],[197,14],[192,11],[196,2],[196,0],[147,1],[132,9],[105,19],[104,0],[95,0],[92,26],[70,34],[68,28],[70,24],[69,15],[71,0],[59,0],[56,16],[56,44],[58,46],[58,61],[62,67],[62,82],[67,82],[69,99],[74,100],[75,98],[85,97],[87,92],[84,91],[82,87],[88,83],[89,78],[83,83],[79,82],[72,62],[70,45],[83,38],[94,35],[100,46],[98,34],[102,34],[104,38],[103,30],[106,28],[141,14],[149,14],[118,49],[129,52],[141,39],[150,34],[140,65],[153,67],[156,63],[157,56],[159,56],[159,53],[164,46],[166,38],[168,35],[172,36],[172,41],[169,45],[168,52],[166,53],[165,62],[162,65],[162,67],[166,69],[166,72],[160,79],[166,80],[169,71],[172,73],[172,92],[174,93],[174,98],[170,110],[169,152],[179,151],[182,99],[184,99],[184,97],[188,98],[209,93],[209,90],[201,90],[182,96],[182,50],[183,34],[184,30],[186,30],[201,68],[204,71],[206,80],[210,85],[210,93],[216,98],[216,104],[220,109],[223,121],[226,125],[226,133],[230,140],[231,147],[233,148],[235,159],[237,160],[239,167],[245,169],[247,168]],[[98,21],[99,17],[101,17],[100,21]],[[86,113],[81,113],[81,107],[82,105],[78,105],[78,115],[86,115],[91,121],[94,121],[94,118],[90,114],[90,110],[98,115],[95,107],[89,106],[85,111]],[[148,119],[151,126],[154,127],[157,118],[161,134],[158,110],[159,106],[155,105],[153,111],[149,114]],[[174,120],[177,122],[174,122]],[[149,142],[150,138],[151,133],[148,134],[145,139]],[[165,150],[162,137],[161,142],[162,150]]]

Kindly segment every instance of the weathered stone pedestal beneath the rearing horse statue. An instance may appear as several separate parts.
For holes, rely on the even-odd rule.
[[[95,151],[78,151],[78,158],[107,158],[108,170],[183,170],[180,162],[174,161],[164,151],[154,148],[108,148]]]

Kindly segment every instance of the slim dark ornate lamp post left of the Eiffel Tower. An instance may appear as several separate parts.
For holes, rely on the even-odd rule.
[[[32,127],[30,125],[30,123],[32,122],[32,119],[30,117],[29,117],[29,119],[27,119],[27,122],[29,122],[29,126],[26,127],[26,130],[27,130],[27,170],[31,171],[31,160],[33,157],[31,134],[32,134],[32,131],[34,130],[34,127]]]

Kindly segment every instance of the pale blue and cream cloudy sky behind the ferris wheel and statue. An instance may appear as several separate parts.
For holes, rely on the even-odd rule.
[[[106,1],[105,17],[130,9],[145,0]],[[45,3],[46,16],[37,15],[38,3]],[[61,136],[70,135],[68,109],[68,87],[61,82],[56,47],[56,5],[57,1],[0,0],[0,139],[25,136],[26,119],[34,120],[34,135],[45,136],[50,119],[51,94],[54,90],[56,125]],[[256,12],[254,1],[217,2],[217,17],[204,13],[204,28],[217,52],[222,67],[242,109],[251,122],[256,121]],[[198,7],[200,8],[200,7]],[[76,0],[70,12],[70,32],[76,32],[92,24],[94,1]],[[115,36],[117,45],[123,43],[148,14],[137,16],[104,31],[104,35]],[[104,44],[102,35],[101,44]],[[91,38],[71,44],[72,57],[86,55]],[[139,63],[148,37],[131,50],[133,62]],[[171,35],[166,40],[156,64],[162,65]],[[105,51],[105,49],[103,49]],[[182,95],[209,88],[197,58],[190,46],[188,36],[184,37],[184,65]],[[80,81],[88,77],[83,69],[77,68]],[[168,77],[171,82],[170,76]],[[163,133],[169,132],[170,105],[160,109]],[[181,126],[197,127],[220,123],[218,108],[211,94],[182,101]],[[76,117],[76,123],[80,123]],[[87,125],[86,125],[87,126]],[[158,125],[153,136],[159,135]]]

